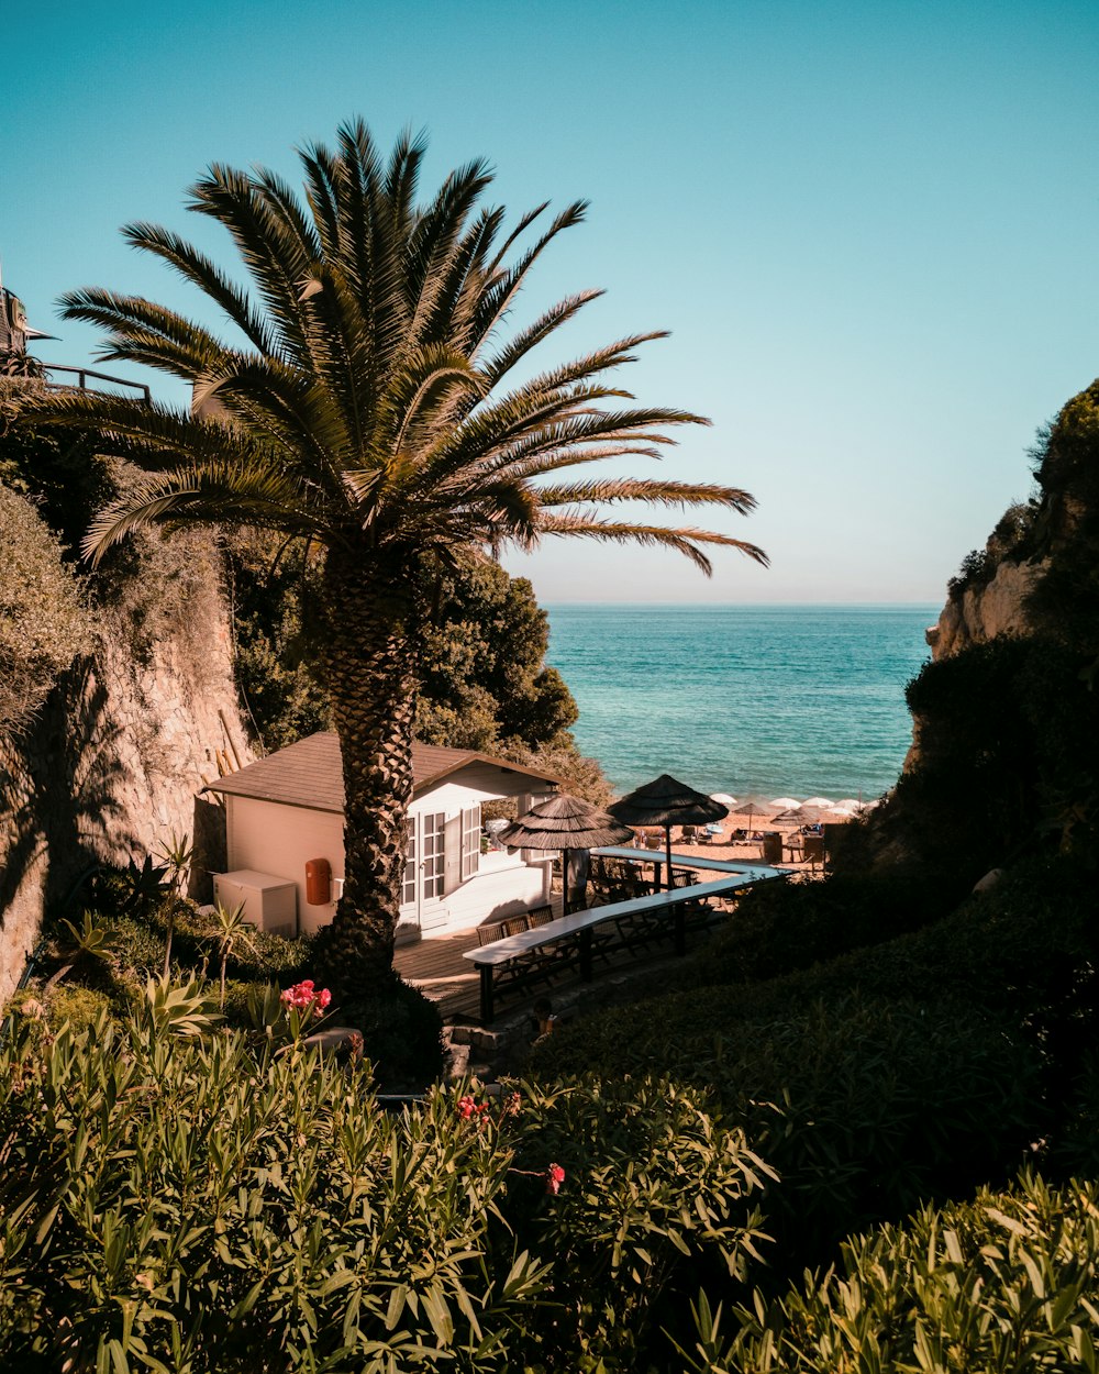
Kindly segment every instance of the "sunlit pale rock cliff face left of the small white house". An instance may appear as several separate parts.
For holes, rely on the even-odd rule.
[[[242,764],[253,756],[213,555],[185,537],[176,547],[174,583],[141,578],[140,624],[132,600],[104,610],[95,653],[0,753],[0,1000],[44,912],[98,860],[140,863],[174,831],[198,849],[195,894],[217,866],[221,811],[198,793],[218,774],[217,750]]]

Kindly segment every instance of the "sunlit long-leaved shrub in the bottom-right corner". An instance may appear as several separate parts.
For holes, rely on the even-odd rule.
[[[925,1208],[843,1246],[841,1263],[784,1297],[723,1318],[699,1304],[694,1374],[835,1370],[1096,1369],[1099,1187]],[[717,1329],[714,1330],[714,1319]]]

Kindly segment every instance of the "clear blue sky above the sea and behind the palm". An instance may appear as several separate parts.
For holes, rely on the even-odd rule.
[[[183,210],[212,161],[294,174],[361,114],[473,155],[496,199],[592,201],[528,309],[599,286],[569,352],[670,328],[632,370],[709,415],[668,475],[753,492],[706,583],[666,552],[545,547],[554,600],[930,600],[1030,488],[1034,429],[1099,372],[1095,0],[10,5],[0,254],[40,356],[84,284],[199,311],[118,227]],[[558,348],[562,348],[562,344]],[[635,470],[646,464],[633,464]]]

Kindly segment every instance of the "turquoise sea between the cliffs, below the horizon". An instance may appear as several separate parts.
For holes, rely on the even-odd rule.
[[[577,743],[626,791],[872,798],[911,743],[938,606],[548,606]]]

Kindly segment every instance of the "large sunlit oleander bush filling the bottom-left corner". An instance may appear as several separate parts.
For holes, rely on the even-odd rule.
[[[4,1369],[504,1370],[540,1287],[503,1232],[485,1267],[512,1154],[449,1094],[239,1035],[16,1028],[0,1139]]]

